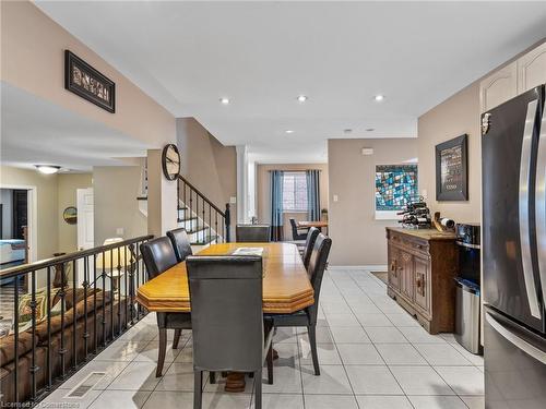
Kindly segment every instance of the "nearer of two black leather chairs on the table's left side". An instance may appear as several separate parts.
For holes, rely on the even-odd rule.
[[[178,264],[173,243],[167,237],[159,237],[140,245],[149,280]],[[167,329],[175,329],[173,349],[178,348],[182,329],[191,329],[191,315],[185,312],[157,312],[159,329],[159,352],[155,376],[162,376],[167,350]]]

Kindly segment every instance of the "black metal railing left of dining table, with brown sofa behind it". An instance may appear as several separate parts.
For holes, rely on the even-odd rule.
[[[0,336],[2,406],[40,400],[146,314],[134,296],[147,280],[140,244],[152,238],[0,270],[0,315],[12,318]]]

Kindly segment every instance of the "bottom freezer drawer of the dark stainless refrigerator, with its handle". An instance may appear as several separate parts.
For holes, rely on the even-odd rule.
[[[486,408],[546,408],[546,340],[487,310],[485,341]]]

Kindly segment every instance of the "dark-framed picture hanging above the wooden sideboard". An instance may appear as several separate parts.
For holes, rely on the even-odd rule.
[[[467,135],[436,145],[436,200],[468,200]]]

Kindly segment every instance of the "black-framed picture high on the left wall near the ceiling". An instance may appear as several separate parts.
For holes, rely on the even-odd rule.
[[[116,112],[116,84],[69,50],[64,50],[64,88]]]

